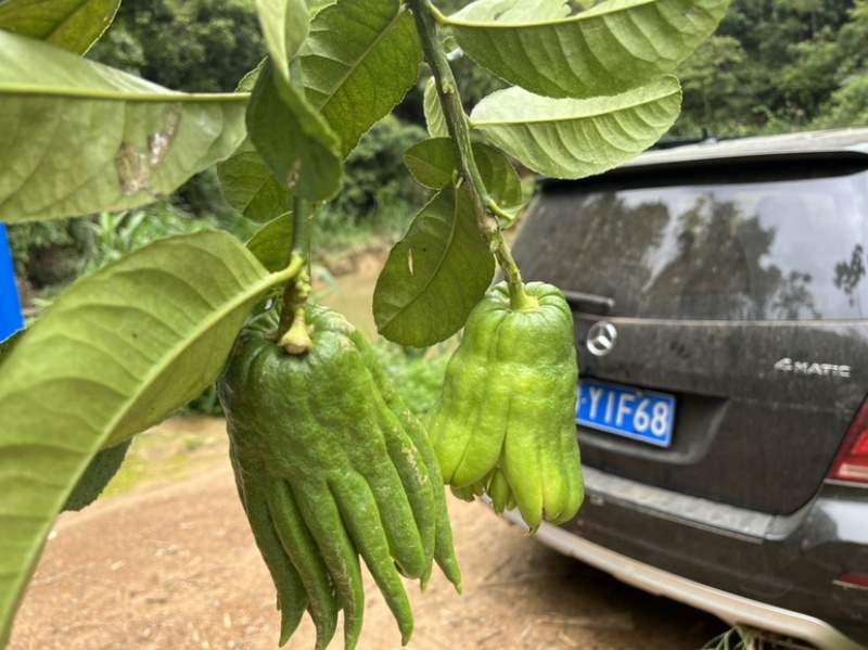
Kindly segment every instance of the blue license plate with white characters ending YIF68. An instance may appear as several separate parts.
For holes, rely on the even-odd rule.
[[[590,379],[578,384],[576,422],[584,426],[668,447],[674,420],[673,395]]]

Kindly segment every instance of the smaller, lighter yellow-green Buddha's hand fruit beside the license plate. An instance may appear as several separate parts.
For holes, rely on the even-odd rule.
[[[500,283],[471,311],[426,420],[444,482],[461,498],[518,505],[531,530],[578,511],[578,367],[573,315],[556,286],[531,282],[510,304]]]

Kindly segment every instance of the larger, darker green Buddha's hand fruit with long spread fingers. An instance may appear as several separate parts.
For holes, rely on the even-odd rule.
[[[277,587],[280,645],[308,611],[326,648],[343,610],[344,645],[356,646],[359,556],[406,643],[413,620],[400,576],[424,588],[436,556],[460,579],[433,448],[384,394],[363,337],[323,307],[308,305],[305,319],[309,352],[250,332],[219,381],[239,495]]]

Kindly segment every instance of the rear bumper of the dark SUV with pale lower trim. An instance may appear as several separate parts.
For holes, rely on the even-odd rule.
[[[868,649],[868,590],[834,584],[868,573],[868,490],[825,486],[795,514],[774,517],[589,468],[585,476],[579,515],[540,526],[547,546],[731,625]]]

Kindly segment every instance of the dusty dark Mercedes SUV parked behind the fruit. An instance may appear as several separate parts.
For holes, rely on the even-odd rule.
[[[578,517],[538,538],[819,648],[868,647],[868,129],[544,181],[525,280],[579,354]]]

